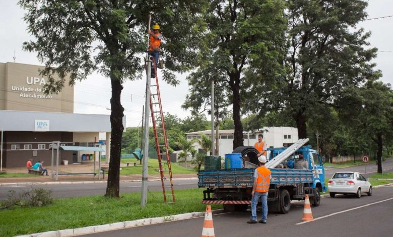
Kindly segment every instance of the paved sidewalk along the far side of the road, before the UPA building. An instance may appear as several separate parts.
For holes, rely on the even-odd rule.
[[[121,167],[125,167],[125,164],[120,164]],[[103,167],[108,167],[108,164],[102,164]],[[48,169],[48,173],[50,174],[50,166],[45,166]],[[54,172],[55,172],[54,167]],[[142,169],[142,168],[141,168]],[[27,173],[27,169],[25,167],[18,168],[7,168],[7,173]],[[93,163],[83,163],[83,164],[69,164],[69,165],[59,165],[59,173],[82,173],[82,172],[93,172]],[[106,182],[108,179],[107,173],[105,173],[105,179],[98,180],[98,164],[96,164],[96,172],[97,175],[95,179],[93,179],[93,174],[83,174],[83,175],[59,175],[58,180],[50,179],[50,176],[39,176],[34,175],[31,177],[0,177],[0,186],[1,185],[11,185],[17,183],[70,183],[70,182]],[[142,172],[142,171],[141,171]],[[197,179],[196,173],[189,174],[173,174],[173,179]],[[149,180],[159,180],[161,179],[159,174],[149,175]],[[132,175],[120,175],[120,182],[136,182],[142,181],[142,173],[141,174],[132,174]]]

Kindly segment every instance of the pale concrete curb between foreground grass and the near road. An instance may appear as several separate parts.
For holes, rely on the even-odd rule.
[[[224,209],[218,209],[218,210],[214,210],[212,214],[219,214],[223,212]],[[171,216],[154,217],[154,218],[146,218],[140,220],[116,222],[111,224],[87,226],[87,227],[81,227],[75,229],[62,229],[57,231],[46,231],[41,233],[18,235],[16,237],[69,237],[69,236],[98,233],[98,232],[111,231],[111,230],[117,230],[123,228],[131,228],[131,227],[137,227],[142,225],[157,224],[157,223],[163,223],[168,221],[184,220],[184,219],[190,219],[190,218],[196,218],[202,216],[205,216],[205,212],[190,212],[190,213],[183,213],[183,214],[177,214]]]

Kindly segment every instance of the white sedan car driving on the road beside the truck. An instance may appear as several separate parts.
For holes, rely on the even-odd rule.
[[[372,195],[370,182],[359,172],[337,172],[328,182],[330,197],[334,198],[336,194],[355,194],[360,198],[362,193]]]

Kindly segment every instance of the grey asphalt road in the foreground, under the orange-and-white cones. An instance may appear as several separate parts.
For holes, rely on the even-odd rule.
[[[319,207],[312,207],[314,221],[303,223],[304,201],[292,202],[288,214],[268,214],[267,224],[247,224],[250,210],[240,213],[213,215],[216,236],[356,236],[390,237],[393,232],[393,186],[374,189],[371,197],[363,194],[360,199],[337,195],[322,198]],[[258,213],[260,215],[260,212]],[[103,236],[201,236],[204,218],[170,221],[159,224],[83,235]]]

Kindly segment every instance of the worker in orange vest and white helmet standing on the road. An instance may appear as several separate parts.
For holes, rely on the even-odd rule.
[[[265,167],[267,162],[266,156],[261,155],[258,157],[258,160],[259,167],[254,172],[254,185],[251,192],[251,219],[247,221],[249,224],[258,222],[256,218],[256,204],[258,204],[259,198],[262,202],[262,218],[259,220],[259,223],[266,224],[268,220],[268,192],[272,172]]]

